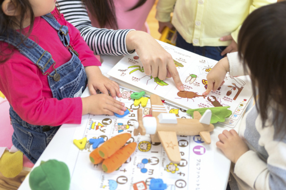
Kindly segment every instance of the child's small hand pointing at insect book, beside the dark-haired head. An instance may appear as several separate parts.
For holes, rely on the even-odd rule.
[[[223,79],[227,72],[229,72],[228,59],[227,57],[223,57],[208,73],[207,90],[202,93],[202,95],[208,95],[212,90],[213,92],[216,92],[218,88],[223,85]]]

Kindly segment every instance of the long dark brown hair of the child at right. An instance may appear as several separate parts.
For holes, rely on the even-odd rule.
[[[286,125],[285,13],[286,1],[253,11],[244,20],[238,37],[239,57],[244,71],[247,67],[250,70],[256,107],[261,114],[263,127],[266,127],[267,110],[270,106],[282,112],[280,116],[276,114],[273,119],[272,124],[278,126],[275,134],[286,132],[286,128],[283,128],[283,125]]]

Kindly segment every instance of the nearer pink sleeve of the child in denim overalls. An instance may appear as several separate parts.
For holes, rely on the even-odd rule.
[[[15,112],[32,125],[80,124],[81,98],[58,100],[44,97],[43,84],[38,76],[41,71],[26,57],[19,58],[22,58],[20,64],[6,62],[0,65],[0,89]]]

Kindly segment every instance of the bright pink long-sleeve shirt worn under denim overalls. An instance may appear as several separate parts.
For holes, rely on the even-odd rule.
[[[84,66],[100,66],[101,63],[94,57],[93,52],[81,37],[80,32],[64,17],[52,12],[61,25],[68,27],[70,44],[79,53]],[[24,30],[27,32],[29,27]],[[60,41],[57,31],[41,17],[35,18],[30,39],[37,42],[48,51],[54,61],[55,68],[65,64],[71,58],[71,53]],[[0,51],[7,50],[8,44],[0,42]],[[50,73],[50,67],[47,72]],[[0,63],[0,91],[7,97],[15,112],[26,122],[32,125],[58,126],[64,123],[81,123],[82,100],[80,97],[53,98],[47,75],[18,50],[4,63]]]

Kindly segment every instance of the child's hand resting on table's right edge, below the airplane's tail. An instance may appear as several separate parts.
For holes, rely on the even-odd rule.
[[[233,129],[230,131],[224,130],[219,134],[219,139],[220,141],[216,143],[217,147],[233,163],[236,163],[241,155],[249,150],[246,143]]]

